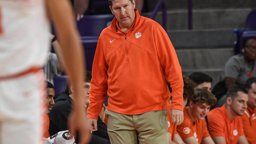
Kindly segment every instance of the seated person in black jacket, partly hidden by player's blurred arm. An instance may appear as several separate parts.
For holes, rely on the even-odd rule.
[[[91,89],[91,72],[85,71],[85,82],[84,82],[84,93],[85,93],[85,108],[88,107],[89,103],[89,92]],[[70,86],[70,95],[65,92],[62,92],[54,97],[55,105],[52,107],[52,111],[49,114],[50,118],[50,135],[54,135],[59,131],[68,130],[68,116],[73,107],[72,105],[72,94],[73,86]],[[85,122],[86,123],[86,122]],[[89,144],[110,144],[109,136],[107,133],[107,126],[98,118],[98,131],[94,132]],[[76,142],[79,142],[79,138],[75,138]]]

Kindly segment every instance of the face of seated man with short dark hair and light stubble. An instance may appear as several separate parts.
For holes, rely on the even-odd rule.
[[[242,116],[247,108],[248,94],[241,91],[238,91],[237,94],[238,96],[234,100],[231,100],[230,107],[237,116]]]

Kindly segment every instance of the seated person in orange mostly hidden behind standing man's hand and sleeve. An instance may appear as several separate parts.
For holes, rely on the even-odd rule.
[[[186,77],[183,77],[184,87],[183,87],[183,108],[186,106],[188,97],[191,97],[194,94],[194,88],[192,81]],[[168,138],[169,144],[178,143],[184,144],[184,141],[178,134],[175,123],[172,123],[172,115],[171,115],[171,103],[167,101],[167,120],[168,120]]]

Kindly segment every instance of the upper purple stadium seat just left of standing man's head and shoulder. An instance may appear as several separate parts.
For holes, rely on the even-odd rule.
[[[114,18],[114,15],[86,15],[77,21],[77,27],[81,37],[84,36],[99,36],[101,31],[109,26]]]

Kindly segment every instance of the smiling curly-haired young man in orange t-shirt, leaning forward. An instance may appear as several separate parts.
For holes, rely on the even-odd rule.
[[[189,97],[189,106],[184,108],[184,121],[177,126],[177,131],[187,144],[214,144],[205,116],[210,107],[216,103],[215,96],[206,89],[195,90],[195,94]]]

